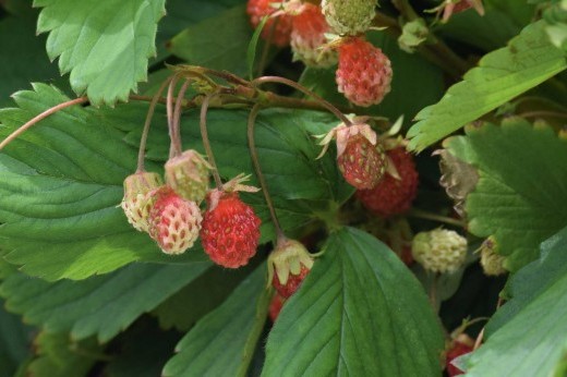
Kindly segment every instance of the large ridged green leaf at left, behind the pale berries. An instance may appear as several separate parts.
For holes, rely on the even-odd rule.
[[[44,84],[34,88],[14,95],[20,108],[0,110],[0,137],[69,99]],[[56,280],[84,279],[135,260],[207,259],[197,247],[166,256],[117,208],[137,155],[117,124],[141,127],[146,111],[146,104],[123,105],[120,111],[68,108],[0,153],[0,250],[7,260]]]

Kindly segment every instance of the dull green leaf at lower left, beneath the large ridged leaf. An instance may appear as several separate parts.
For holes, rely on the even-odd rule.
[[[14,272],[0,285],[0,294],[27,323],[49,332],[70,332],[73,339],[96,336],[106,342],[209,266],[137,264],[80,282],[53,283]]]

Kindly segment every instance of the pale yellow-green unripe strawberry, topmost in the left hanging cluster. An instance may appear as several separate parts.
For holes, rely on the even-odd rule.
[[[208,191],[208,162],[195,150],[185,150],[181,156],[166,162],[166,183],[181,197],[201,203]]]

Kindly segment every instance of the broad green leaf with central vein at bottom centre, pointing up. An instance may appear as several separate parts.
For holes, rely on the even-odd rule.
[[[437,376],[441,324],[423,289],[372,235],[343,229],[286,303],[263,375]]]

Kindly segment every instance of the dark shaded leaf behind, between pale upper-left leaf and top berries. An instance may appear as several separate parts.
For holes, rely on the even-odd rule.
[[[190,64],[245,74],[252,29],[243,7],[231,8],[188,27],[171,39],[170,52]]]

